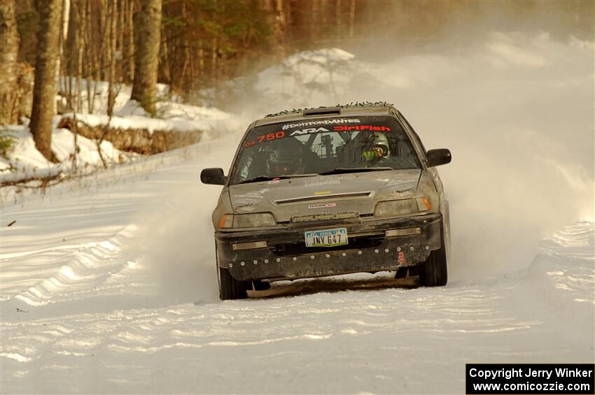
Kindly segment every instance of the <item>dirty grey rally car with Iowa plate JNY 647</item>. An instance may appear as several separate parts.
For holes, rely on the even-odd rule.
[[[221,299],[270,282],[408,268],[447,283],[449,211],[429,150],[393,106],[367,103],[267,115],[253,122],[213,212]]]

